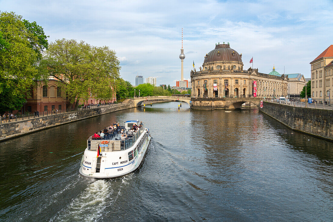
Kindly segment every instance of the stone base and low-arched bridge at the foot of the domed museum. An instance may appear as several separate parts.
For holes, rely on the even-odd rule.
[[[241,97],[241,98],[191,98],[191,109],[215,110],[215,109],[238,109],[242,104],[250,102],[260,109],[260,101],[263,98]]]

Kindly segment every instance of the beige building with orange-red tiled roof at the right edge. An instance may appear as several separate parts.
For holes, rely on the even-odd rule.
[[[333,45],[315,58],[311,64],[311,97],[317,103],[331,102],[333,93]]]

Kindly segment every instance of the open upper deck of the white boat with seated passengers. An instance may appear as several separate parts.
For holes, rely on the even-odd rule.
[[[126,121],[125,125],[106,127],[101,135],[90,136],[87,141],[88,150],[97,150],[98,146],[102,151],[121,151],[130,148],[145,132],[145,123],[139,121]],[[137,126],[137,129],[135,129]],[[145,136],[144,136],[145,137]]]

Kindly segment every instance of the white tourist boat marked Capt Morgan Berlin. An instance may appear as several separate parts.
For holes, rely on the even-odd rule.
[[[131,134],[130,129],[139,121],[126,121],[122,130],[126,130],[128,137],[121,140],[121,133],[117,130],[105,133],[103,138],[90,136],[84,151],[80,174],[93,178],[116,178],[140,167],[151,139],[149,129],[142,127]]]

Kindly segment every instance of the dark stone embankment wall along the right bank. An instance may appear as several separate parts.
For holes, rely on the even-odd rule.
[[[264,102],[263,113],[291,129],[333,141],[333,111]]]

